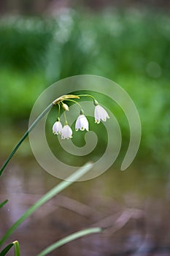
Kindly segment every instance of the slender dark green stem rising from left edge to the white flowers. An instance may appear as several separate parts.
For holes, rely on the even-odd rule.
[[[32,129],[34,129],[34,127],[36,126],[36,124],[45,116],[45,114],[53,107],[53,102],[50,103],[50,105],[47,106],[47,108],[45,108],[45,110],[36,118],[36,120],[34,121],[33,124],[31,124],[31,126],[28,128],[28,130],[26,131],[26,133],[23,135],[23,137],[18,141],[17,145],[15,146],[15,148],[12,150],[11,154],[9,154],[9,157],[7,157],[6,161],[4,162],[4,165],[2,165],[1,170],[0,170],[0,176],[4,171],[4,168],[7,166],[7,164],[9,163],[10,159],[12,159],[13,155],[15,154],[15,152],[18,150],[18,148],[20,147],[20,144],[23,143],[23,140],[25,140],[28,137],[29,132],[31,132]]]

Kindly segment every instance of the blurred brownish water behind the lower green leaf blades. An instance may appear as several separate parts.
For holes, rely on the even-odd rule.
[[[61,182],[39,167],[28,148],[27,141],[1,176],[0,200],[9,199],[0,211],[1,236]],[[70,233],[101,226],[108,227],[104,233],[73,241],[50,255],[169,255],[169,174],[147,170],[142,163],[136,166],[125,172],[115,166],[98,178],[72,184],[26,219],[8,242],[17,239],[21,255],[34,256]]]

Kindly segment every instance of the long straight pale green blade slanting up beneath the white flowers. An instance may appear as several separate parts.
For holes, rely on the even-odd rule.
[[[80,167],[80,169],[74,172],[71,176],[69,176],[66,181],[61,181],[60,184],[58,184],[49,192],[47,192],[47,194],[43,195],[33,206],[28,208],[28,210],[9,228],[9,230],[7,230],[7,233],[5,233],[0,240],[0,246],[4,244],[4,241],[6,241],[7,238],[9,238],[9,236],[18,228],[18,226],[20,226],[20,224],[23,223],[25,219],[27,219],[31,214],[33,214],[34,211],[36,211],[36,209],[38,209],[52,197],[57,195],[63,189],[69,187],[69,185],[71,185],[74,181],[77,181],[80,177],[85,175],[85,173],[87,173],[88,170],[90,170],[92,167],[93,164],[88,162],[87,164]]]

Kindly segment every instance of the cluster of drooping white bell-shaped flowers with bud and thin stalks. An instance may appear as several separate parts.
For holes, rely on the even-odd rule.
[[[89,94],[82,94],[80,96],[89,96],[93,98],[93,103],[95,105],[94,108],[94,118],[95,118],[95,123],[99,124],[100,121],[107,121],[107,118],[109,118],[109,115],[107,113],[107,111],[101,107],[101,105],[98,104],[98,102],[96,101],[96,99],[94,99],[93,96],[89,95]],[[73,100],[72,98],[80,98],[80,96],[77,95],[63,95],[62,97],[56,99],[54,101],[54,105],[58,104],[58,116],[60,116],[60,107],[63,108],[64,111],[69,111],[69,106],[66,105],[66,103],[63,103],[63,100],[69,100],[72,102],[77,103],[78,105],[80,105],[78,102],[76,102],[75,100]],[[81,108],[81,106],[80,106]],[[61,135],[61,139],[69,139],[72,138],[72,128],[69,127],[69,124],[66,120],[66,113],[64,112],[64,116],[65,116],[65,124],[64,126],[61,124],[60,118],[57,118],[57,121],[55,121],[55,124],[53,124],[53,134],[54,135]],[[80,116],[78,116],[76,124],[75,124],[75,130],[81,131],[88,131],[89,130],[89,124],[88,124],[88,119],[85,117],[84,115],[84,111],[80,110]]]

